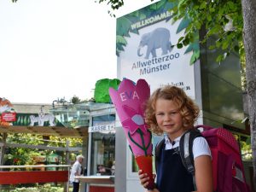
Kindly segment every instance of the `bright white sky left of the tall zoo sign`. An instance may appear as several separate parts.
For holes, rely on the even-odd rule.
[[[125,0],[114,14],[150,3]],[[97,80],[117,77],[116,18],[108,10],[95,0],[0,0],[0,97],[15,103],[93,97]]]

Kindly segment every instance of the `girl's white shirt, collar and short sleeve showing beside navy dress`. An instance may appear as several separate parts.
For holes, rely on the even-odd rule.
[[[172,145],[169,137],[165,136],[166,139],[166,148],[165,150],[177,148],[179,146],[179,140],[181,137],[177,137],[174,139],[174,145]],[[209,145],[207,143],[207,140],[205,137],[196,137],[193,142],[193,154],[194,154],[194,160],[196,157],[199,157],[201,155],[209,155],[212,157],[211,150],[209,148]]]

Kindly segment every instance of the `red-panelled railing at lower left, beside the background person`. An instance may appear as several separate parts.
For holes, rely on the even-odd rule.
[[[27,171],[29,168],[42,169],[44,167],[59,167],[67,170],[61,171]],[[69,165],[49,166],[0,166],[0,184],[19,183],[67,183],[64,191],[68,192]],[[26,171],[5,171],[6,169],[25,169]]]

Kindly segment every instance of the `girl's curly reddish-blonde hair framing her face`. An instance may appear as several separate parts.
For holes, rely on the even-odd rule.
[[[148,99],[145,110],[145,121],[149,129],[157,135],[163,134],[155,118],[155,103],[158,99],[172,100],[177,104],[178,111],[182,115],[183,128],[188,130],[193,128],[195,120],[198,118],[200,110],[183,89],[176,86],[166,85],[154,90],[154,93]]]

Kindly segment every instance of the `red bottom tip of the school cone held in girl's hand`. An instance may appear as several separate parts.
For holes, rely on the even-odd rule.
[[[153,178],[153,170],[152,170],[152,156],[137,156],[135,157],[137,162],[137,166],[139,169],[143,170],[143,173],[147,173],[149,177],[149,183],[147,189],[154,189],[154,178]]]

